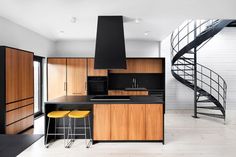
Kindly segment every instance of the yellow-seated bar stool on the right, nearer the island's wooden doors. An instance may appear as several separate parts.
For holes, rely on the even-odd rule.
[[[92,143],[92,136],[91,136],[91,126],[90,126],[90,111],[71,111],[68,114],[69,119],[69,132],[68,132],[68,139],[70,138],[70,141],[67,142],[67,148],[70,148],[72,143],[75,141],[75,136],[76,135],[84,135],[85,138],[85,145],[86,148],[89,148],[91,143]],[[86,124],[86,118],[88,119],[88,126]],[[73,124],[72,124],[72,119],[73,119]],[[76,119],[83,119],[84,126],[83,127],[78,127],[76,126]],[[77,134],[76,130],[83,129],[84,134]],[[87,129],[89,130],[89,142],[87,140]],[[73,130],[73,131],[72,131]],[[74,138],[73,138],[74,137]]]

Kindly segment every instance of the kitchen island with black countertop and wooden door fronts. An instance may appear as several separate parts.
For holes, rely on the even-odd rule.
[[[129,99],[116,100],[91,98],[93,96],[63,96],[53,99],[45,103],[45,115],[55,110],[90,110],[93,143],[129,141],[164,144],[162,97],[129,96]],[[45,116],[45,128],[47,124],[48,118]],[[49,130],[53,131],[54,126],[55,123],[51,121]],[[48,141],[45,140],[45,143]]]

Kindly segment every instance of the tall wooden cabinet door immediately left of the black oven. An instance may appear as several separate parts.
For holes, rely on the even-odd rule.
[[[86,59],[67,59],[67,95],[87,95]]]

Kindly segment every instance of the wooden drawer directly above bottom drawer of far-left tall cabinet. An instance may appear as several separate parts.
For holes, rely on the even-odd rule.
[[[6,125],[14,123],[34,113],[34,105],[28,105],[16,110],[6,112]]]

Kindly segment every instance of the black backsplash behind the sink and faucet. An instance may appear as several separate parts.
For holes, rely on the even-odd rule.
[[[164,74],[109,74],[108,89],[122,90],[132,88],[132,80],[135,78],[139,88],[149,90],[164,89]]]

